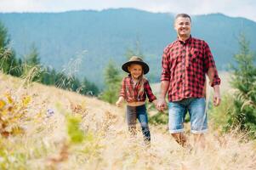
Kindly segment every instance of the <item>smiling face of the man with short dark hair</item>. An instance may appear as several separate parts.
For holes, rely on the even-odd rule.
[[[190,37],[191,35],[191,20],[189,18],[179,17],[175,20],[174,29],[179,37]]]

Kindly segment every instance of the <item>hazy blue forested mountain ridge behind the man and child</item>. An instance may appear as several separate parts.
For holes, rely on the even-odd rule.
[[[176,39],[174,14],[134,8],[7,13],[0,14],[0,20],[8,28],[18,56],[28,54],[34,44],[44,65],[65,71],[79,69],[80,77],[86,76],[100,86],[109,60],[114,60],[120,68],[127,60],[126,51],[135,49],[137,42],[151,67],[149,77],[159,81],[162,50]],[[220,70],[226,69],[238,51],[240,33],[245,33],[251,47],[256,47],[256,23],[252,20],[224,14],[193,15],[191,20],[192,36],[208,42]],[[78,60],[80,67],[72,64],[76,58],[82,59]]]

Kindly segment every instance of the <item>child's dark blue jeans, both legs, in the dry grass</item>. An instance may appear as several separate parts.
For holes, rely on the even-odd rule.
[[[151,132],[148,126],[148,117],[145,109],[145,105],[139,106],[127,106],[127,122],[128,130],[133,135],[136,134],[136,120],[139,120],[140,127],[144,136],[145,141],[151,141]]]

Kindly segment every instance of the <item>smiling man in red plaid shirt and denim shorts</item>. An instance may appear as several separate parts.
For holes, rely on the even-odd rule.
[[[204,133],[208,130],[205,85],[208,75],[213,87],[213,105],[220,104],[220,79],[208,43],[191,37],[191,17],[178,14],[174,21],[178,38],[162,54],[161,94],[157,107],[167,108],[168,127],[174,139],[182,146],[189,145],[184,134],[185,114],[189,111],[194,144],[205,146]]]

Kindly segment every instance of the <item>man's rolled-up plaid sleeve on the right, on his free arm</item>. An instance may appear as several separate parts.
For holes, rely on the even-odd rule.
[[[220,84],[220,78],[218,75],[218,71],[213,59],[213,54],[208,46],[208,43],[205,42],[204,47],[204,63],[203,63],[203,71],[208,74],[210,80],[210,86],[213,87],[215,85]]]

